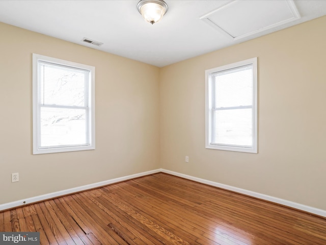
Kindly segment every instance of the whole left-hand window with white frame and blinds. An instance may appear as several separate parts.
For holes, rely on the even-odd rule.
[[[33,154],[95,149],[95,67],[33,54]]]

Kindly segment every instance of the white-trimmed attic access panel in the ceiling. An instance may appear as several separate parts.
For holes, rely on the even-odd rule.
[[[200,19],[233,40],[254,35],[300,18],[292,0],[232,1]]]

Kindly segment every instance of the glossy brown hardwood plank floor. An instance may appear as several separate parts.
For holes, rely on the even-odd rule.
[[[0,212],[41,244],[326,244],[326,218],[159,173]]]

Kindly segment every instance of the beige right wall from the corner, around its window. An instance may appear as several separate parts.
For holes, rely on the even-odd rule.
[[[325,27],[321,17],[162,68],[161,167],[326,210]],[[259,153],[205,149],[205,70],[253,57]]]

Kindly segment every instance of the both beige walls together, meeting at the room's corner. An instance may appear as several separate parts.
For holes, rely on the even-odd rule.
[[[0,23],[0,204],[162,167],[326,210],[325,26],[159,69]],[[96,150],[32,155],[32,53],[96,67]],[[205,149],[205,69],[253,57],[259,153]]]

